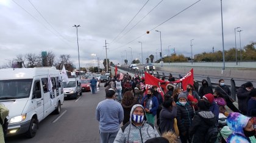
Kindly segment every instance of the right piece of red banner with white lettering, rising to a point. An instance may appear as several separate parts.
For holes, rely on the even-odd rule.
[[[182,88],[183,90],[187,90],[187,85],[191,84],[194,85],[194,70],[193,68],[190,70],[187,75],[185,75],[183,78],[178,79],[177,81],[172,82],[177,87]]]

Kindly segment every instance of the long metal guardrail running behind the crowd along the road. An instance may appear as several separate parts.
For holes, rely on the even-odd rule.
[[[115,67],[112,67],[115,68]],[[144,74],[144,70],[133,70],[132,68],[129,67],[118,67],[121,70],[127,71],[129,73],[132,73],[134,75],[138,75],[138,76],[143,76]],[[158,72],[158,71],[147,71],[148,73],[153,73],[154,76],[159,76],[160,79],[165,77],[165,79],[168,79],[169,77],[169,73],[166,72]],[[185,75],[181,75],[179,73],[171,73],[172,76],[175,79],[180,79],[180,77],[185,76]],[[210,76],[202,76],[202,75],[194,75],[194,80],[197,81],[199,83],[199,86],[202,85],[202,79],[206,79],[208,82],[208,85],[211,86],[213,89],[215,89],[218,84],[219,84],[219,79],[224,79],[226,82],[225,84],[227,86],[229,86],[230,90],[231,90],[231,98],[234,99],[236,101],[236,89],[238,87],[240,87],[241,84],[244,84],[246,82],[249,82],[249,80],[246,79],[233,79],[233,78],[219,78],[219,77],[210,77]],[[256,84],[256,81],[250,81],[252,82],[254,85]],[[239,86],[238,86],[239,85]]]

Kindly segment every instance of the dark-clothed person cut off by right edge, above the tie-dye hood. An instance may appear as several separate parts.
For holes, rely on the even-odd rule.
[[[251,98],[247,103],[247,116],[256,117],[256,88],[251,90]]]

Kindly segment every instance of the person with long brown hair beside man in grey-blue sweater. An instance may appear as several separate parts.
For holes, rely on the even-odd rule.
[[[137,100],[134,98],[133,93],[131,91],[126,91],[124,93],[124,98],[121,101],[121,105],[124,110],[124,120],[123,125],[129,122],[130,119],[130,110],[132,110],[132,106],[138,104]]]

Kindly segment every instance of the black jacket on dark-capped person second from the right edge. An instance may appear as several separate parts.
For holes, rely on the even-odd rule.
[[[247,91],[244,85],[241,85],[238,90],[236,90],[236,96],[238,98],[238,109],[244,114],[247,113],[247,102],[250,99],[250,91]]]

